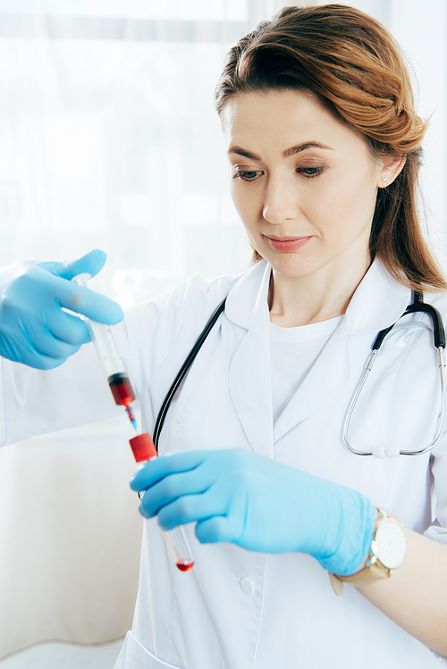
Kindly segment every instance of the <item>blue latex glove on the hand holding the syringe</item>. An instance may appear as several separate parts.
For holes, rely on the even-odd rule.
[[[53,369],[90,341],[85,322],[61,307],[112,325],[122,308],[108,297],[72,282],[94,276],[104,251],[91,251],[70,263],[17,263],[0,270],[0,355],[38,369]]]

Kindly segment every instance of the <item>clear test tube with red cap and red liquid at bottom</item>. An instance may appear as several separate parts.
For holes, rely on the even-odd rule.
[[[154,442],[150,438],[148,432],[143,432],[142,434],[139,434],[138,437],[129,439],[129,443],[131,444],[133,456],[140,466],[146,464],[149,460],[152,460],[152,458],[158,455]],[[144,491],[139,493],[139,498],[141,499],[143,495]],[[192,557],[190,542],[188,541],[184,528],[181,525],[178,525],[177,527],[174,527],[173,530],[162,531],[166,546],[173,557],[175,566],[177,569],[180,569],[181,572],[189,572],[194,566],[194,559]]]

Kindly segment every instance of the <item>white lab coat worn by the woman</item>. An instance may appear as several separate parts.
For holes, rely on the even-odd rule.
[[[160,453],[244,447],[358,489],[409,528],[447,544],[447,447],[384,460],[354,456],[342,443],[347,406],[378,330],[410,302],[373,263],[291,403],[273,425],[267,289],[263,261],[240,277],[192,277],[168,296],[131,308],[116,337],[151,431],[164,395],[209,315],[229,293],[169,410]],[[447,314],[447,298],[426,295]],[[415,314],[407,320],[426,322]],[[411,343],[411,347],[409,344]],[[299,355],[299,351],[297,351]],[[351,422],[350,441],[420,447],[440,409],[437,358],[423,327],[384,344]],[[52,372],[3,361],[4,443],[111,413],[91,345]],[[373,376],[374,374],[374,376]],[[37,392],[38,390],[38,392]],[[46,405],[51,399],[51,413]],[[70,401],[67,401],[70,400]],[[432,523],[430,487],[437,495]],[[297,509],[299,514],[308,509]],[[428,669],[444,664],[353,587],[341,598],[313,557],[200,545],[186,528],[194,569],[181,573],[156,519],[145,522],[134,623],[115,669]],[[447,548],[446,548],[447,550]]]

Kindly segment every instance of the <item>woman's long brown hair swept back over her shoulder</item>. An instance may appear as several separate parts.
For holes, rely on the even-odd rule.
[[[366,138],[373,158],[406,155],[399,176],[379,188],[369,240],[397,280],[412,289],[447,289],[419,225],[418,173],[427,121],[414,108],[401,47],[384,26],[342,4],[284,7],[227,55],[215,88],[220,114],[230,96],[269,89],[312,91]],[[254,252],[254,261],[261,256]]]

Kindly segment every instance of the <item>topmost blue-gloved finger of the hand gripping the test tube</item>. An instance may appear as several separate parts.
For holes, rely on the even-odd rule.
[[[131,489],[141,492],[153,486],[157,481],[161,481],[165,476],[195,469],[204,461],[207,454],[209,451],[193,450],[157,457],[135,473],[131,479]]]

